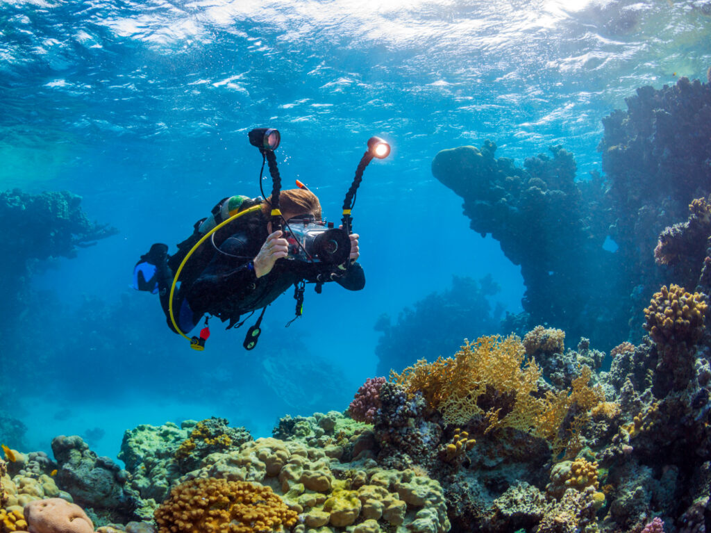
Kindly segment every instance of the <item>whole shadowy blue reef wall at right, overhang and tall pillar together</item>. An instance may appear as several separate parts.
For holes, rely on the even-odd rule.
[[[606,349],[641,338],[643,304],[662,283],[685,283],[653,250],[665,226],[685,221],[692,199],[711,192],[711,85],[681,78],[640,88],[626,105],[603,120],[604,176],[577,180],[562,147],[516,167],[495,157],[491,141],[432,162],[432,174],[464,199],[471,228],[491,233],[521,265],[526,327],[560,327]]]

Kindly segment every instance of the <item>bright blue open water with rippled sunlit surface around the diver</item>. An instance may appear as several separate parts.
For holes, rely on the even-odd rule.
[[[92,449],[112,457],[139,423],[224,416],[266,436],[286,413],[343,410],[375,372],[383,313],[487,274],[521,309],[518,268],[434,179],[437,152],[491,139],[520,165],[562,144],[587,179],[602,117],[641,85],[705,79],[710,33],[707,1],[1,2],[0,189],[68,189],[119,229],[37,265],[38,300],[17,310],[35,342],[1,356],[34,370],[3,376],[2,408],[28,449],[101,428]],[[368,138],[392,144],[353,210],[367,285],[309,290],[284,328],[287,293],[254,352],[215,320],[193,352],[129,289],[132,267],[223,197],[260,194],[260,126],[282,132],[285,186],[304,181],[331,220]]]

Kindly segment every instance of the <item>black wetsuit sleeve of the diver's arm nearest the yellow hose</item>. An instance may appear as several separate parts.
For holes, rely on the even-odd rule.
[[[188,302],[196,312],[206,312],[226,298],[243,295],[257,281],[250,255],[240,239],[228,238],[200,277],[188,289]],[[229,254],[229,255],[227,255]],[[232,257],[234,255],[239,258]]]

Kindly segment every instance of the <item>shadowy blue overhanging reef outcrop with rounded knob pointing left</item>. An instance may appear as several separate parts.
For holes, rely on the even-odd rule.
[[[523,168],[496,159],[496,149],[486,140],[479,149],[442,150],[432,174],[464,199],[471,228],[491,233],[521,265],[526,327],[551,324],[603,347],[623,337],[624,310],[609,306],[617,270],[602,248],[611,219],[601,176],[576,182],[574,157],[560,146],[550,147],[552,157],[525,159]]]

